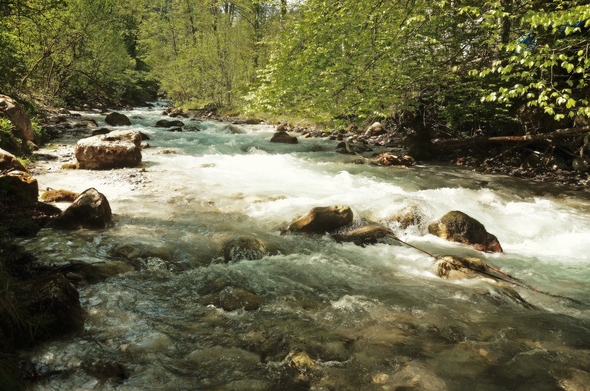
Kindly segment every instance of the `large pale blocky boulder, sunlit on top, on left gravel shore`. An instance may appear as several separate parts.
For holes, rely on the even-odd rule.
[[[142,136],[137,131],[113,131],[76,144],[78,168],[135,167],[142,161]]]

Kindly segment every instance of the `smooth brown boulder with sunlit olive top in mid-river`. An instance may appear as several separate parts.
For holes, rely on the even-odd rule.
[[[289,225],[291,232],[325,233],[352,223],[352,210],[348,206],[316,207]]]

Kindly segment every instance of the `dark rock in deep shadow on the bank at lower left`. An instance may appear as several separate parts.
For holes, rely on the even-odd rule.
[[[80,296],[63,275],[51,275],[16,285],[16,296],[27,311],[27,323],[35,325],[17,343],[41,343],[84,327]],[[22,313],[22,312],[21,312]],[[31,333],[31,334],[30,334]]]

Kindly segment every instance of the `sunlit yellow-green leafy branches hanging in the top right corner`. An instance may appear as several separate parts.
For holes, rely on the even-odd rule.
[[[576,3],[549,1],[520,18],[523,31],[531,31],[536,44],[527,47],[517,39],[500,45],[509,57],[471,72],[481,77],[501,75],[499,89],[482,101],[510,105],[517,97],[524,97],[527,106],[537,106],[555,120],[590,117],[590,7]],[[573,27],[580,21],[585,23]]]

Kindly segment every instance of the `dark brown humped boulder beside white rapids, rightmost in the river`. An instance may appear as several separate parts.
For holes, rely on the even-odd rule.
[[[450,242],[471,245],[480,251],[502,252],[500,242],[486,227],[467,214],[454,210],[428,226],[428,232]]]

